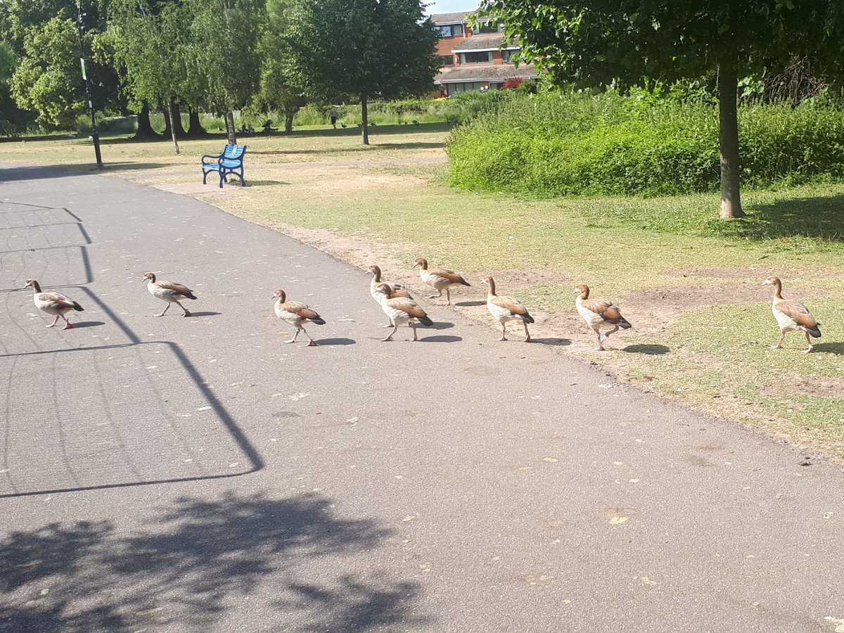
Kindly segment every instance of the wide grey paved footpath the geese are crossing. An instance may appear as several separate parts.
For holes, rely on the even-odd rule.
[[[844,631],[840,464],[426,306],[381,343],[285,235],[0,169],[0,631]]]

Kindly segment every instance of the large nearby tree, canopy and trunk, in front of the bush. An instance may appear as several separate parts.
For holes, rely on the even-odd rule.
[[[793,54],[830,61],[841,9],[829,0],[484,0],[484,15],[518,36],[522,57],[556,84],[673,82],[718,71],[722,217],[744,214],[738,179],[738,78]],[[839,12],[836,14],[835,12]]]

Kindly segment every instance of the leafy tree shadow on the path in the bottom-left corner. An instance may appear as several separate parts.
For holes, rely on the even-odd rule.
[[[389,534],[336,516],[315,494],[185,498],[136,533],[108,521],[12,532],[0,540],[0,631],[198,630],[253,594],[260,600],[262,586],[272,599],[237,614],[259,619],[242,630],[268,618],[287,631],[408,625],[417,583],[348,573],[351,557]],[[332,576],[329,560],[317,576],[315,559],[338,560],[344,572]]]

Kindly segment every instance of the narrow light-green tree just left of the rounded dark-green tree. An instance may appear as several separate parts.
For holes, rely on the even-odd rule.
[[[293,131],[293,117],[308,99],[296,84],[290,66],[290,48],[284,35],[289,29],[289,0],[267,1],[267,28],[261,39],[261,90],[257,106],[284,112],[284,132]]]

